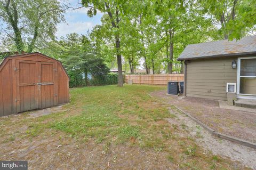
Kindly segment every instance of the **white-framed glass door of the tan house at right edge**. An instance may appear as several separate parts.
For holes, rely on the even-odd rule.
[[[238,58],[237,95],[256,99],[256,56]]]

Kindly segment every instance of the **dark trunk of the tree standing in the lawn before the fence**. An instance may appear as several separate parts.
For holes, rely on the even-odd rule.
[[[122,58],[120,54],[120,39],[119,35],[116,35],[116,57],[117,57],[117,68],[118,68],[118,86],[123,87],[123,70],[122,70]]]

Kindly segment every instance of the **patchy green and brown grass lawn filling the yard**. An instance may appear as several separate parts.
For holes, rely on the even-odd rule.
[[[174,107],[147,93],[163,87],[74,88],[63,111],[0,118],[0,160],[28,160],[29,169],[246,169],[204,151]]]

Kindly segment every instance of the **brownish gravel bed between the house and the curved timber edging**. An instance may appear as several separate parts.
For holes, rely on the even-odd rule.
[[[256,143],[254,113],[220,108],[217,100],[169,96],[166,91],[156,91],[151,95],[187,111],[215,131]]]

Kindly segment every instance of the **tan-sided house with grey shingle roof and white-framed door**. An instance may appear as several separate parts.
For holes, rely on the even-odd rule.
[[[237,98],[256,99],[256,36],[188,45],[185,61],[186,96],[227,100],[227,83]]]

